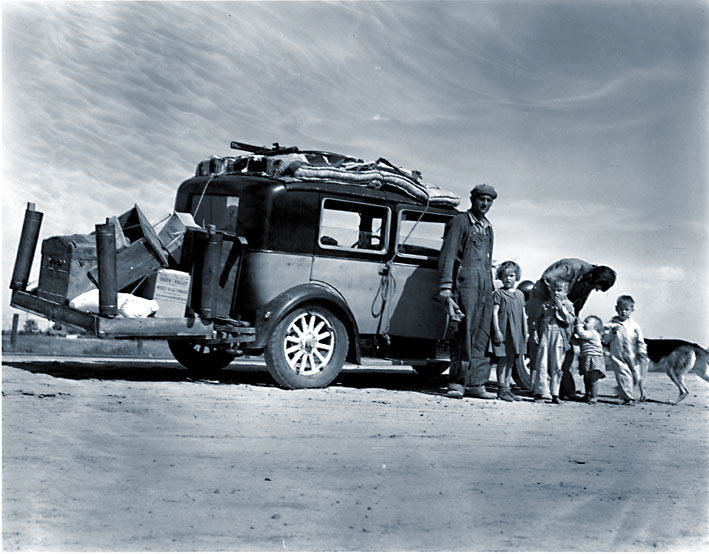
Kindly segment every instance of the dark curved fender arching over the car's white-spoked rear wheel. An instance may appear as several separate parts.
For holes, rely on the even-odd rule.
[[[355,364],[360,363],[359,329],[352,310],[336,289],[320,282],[296,285],[256,310],[254,321],[256,341],[250,347],[264,348],[278,322],[298,306],[310,302],[322,304],[340,316],[350,341],[347,361]]]

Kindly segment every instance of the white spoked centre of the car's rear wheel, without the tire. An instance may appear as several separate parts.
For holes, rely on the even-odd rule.
[[[288,365],[295,373],[318,374],[332,359],[335,332],[321,314],[301,314],[288,326],[283,350]]]

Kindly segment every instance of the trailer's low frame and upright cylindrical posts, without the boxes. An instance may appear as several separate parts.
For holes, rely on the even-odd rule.
[[[206,232],[192,230],[188,241],[193,244],[192,268],[206,275],[205,279],[195,281],[191,301],[185,306],[184,317],[120,317],[118,313],[119,271],[117,259],[119,253],[115,245],[115,224],[103,223],[96,225],[95,267],[86,267],[86,274],[92,271],[97,274],[96,286],[99,295],[99,313],[90,313],[72,308],[68,298],[61,300],[61,295],[54,285],[56,279],[51,274],[60,274],[67,289],[71,290],[72,280],[86,280],[86,275],[72,275],[71,271],[62,271],[62,265],[71,266],[67,259],[53,259],[50,254],[43,253],[40,285],[28,290],[29,274],[39,238],[40,226],[44,214],[35,209],[34,203],[28,203],[25,210],[24,223],[18,246],[15,266],[10,288],[12,296],[10,305],[14,308],[44,317],[51,321],[81,330],[88,336],[104,339],[154,339],[175,341],[175,344],[198,345],[203,351],[221,352],[222,358],[234,356],[241,352],[243,345],[254,341],[255,329],[247,322],[233,320],[229,317],[215,314],[216,287],[212,276],[217,272],[215,245],[224,240],[217,236],[216,230],[209,228]],[[198,236],[201,235],[201,236]],[[51,240],[51,239],[48,239]],[[155,237],[150,237],[155,241]],[[234,237],[228,237],[234,240]],[[74,239],[76,243],[77,239]],[[47,243],[47,241],[45,241]],[[236,240],[237,244],[241,244]],[[196,258],[201,249],[201,256]],[[143,248],[147,250],[147,248]],[[156,250],[156,252],[158,252]],[[164,252],[161,252],[164,254]],[[143,255],[145,258],[145,255]],[[167,265],[167,258],[163,257]],[[133,254],[132,263],[128,267],[135,269],[141,265],[141,257]],[[145,265],[143,263],[143,265]],[[57,266],[60,266],[57,268]],[[49,274],[49,276],[48,276]],[[125,280],[126,278],[124,278]],[[131,277],[127,277],[130,281]],[[45,286],[46,288],[43,288]],[[179,347],[178,347],[179,348]],[[214,357],[214,356],[212,356]],[[231,359],[229,360],[231,361]]]

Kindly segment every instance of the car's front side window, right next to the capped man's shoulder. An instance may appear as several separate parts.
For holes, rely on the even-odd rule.
[[[397,250],[401,256],[438,258],[450,216],[402,210],[399,213]]]

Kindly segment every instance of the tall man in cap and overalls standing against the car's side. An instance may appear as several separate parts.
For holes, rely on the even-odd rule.
[[[489,185],[470,191],[471,208],[446,226],[438,259],[439,296],[451,318],[451,368],[448,396],[494,399],[485,390],[490,360],[485,353],[492,323],[492,247],[494,233],[485,214],[497,198]],[[454,304],[453,304],[454,303]],[[455,305],[463,316],[455,317]],[[452,308],[451,308],[452,307]]]

